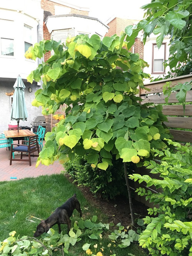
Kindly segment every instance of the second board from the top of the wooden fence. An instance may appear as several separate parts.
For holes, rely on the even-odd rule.
[[[170,97],[169,97],[169,103],[175,103],[175,102],[179,102],[177,100],[177,98],[175,97],[176,93],[171,93]],[[141,96],[142,100],[141,104],[144,103],[155,103],[155,104],[159,104],[159,103],[166,103],[165,102],[165,98],[166,96],[164,96],[164,94],[160,94],[160,95],[147,95],[147,96]],[[192,91],[187,91],[187,95],[186,95],[186,102],[192,101]]]

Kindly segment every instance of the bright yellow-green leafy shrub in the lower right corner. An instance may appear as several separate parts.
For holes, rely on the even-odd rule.
[[[147,248],[151,255],[192,256],[192,146],[168,140],[175,150],[153,150],[154,156],[161,158],[161,163],[145,161],[151,173],[159,174],[161,180],[152,179],[148,175],[133,174],[131,179],[145,181],[147,187],[154,185],[161,188],[161,193],[152,193],[144,188],[137,189],[138,194],[146,196],[146,200],[159,204],[159,208],[149,208],[147,224],[139,237],[139,244]]]

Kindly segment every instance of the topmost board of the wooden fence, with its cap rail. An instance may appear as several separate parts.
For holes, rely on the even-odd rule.
[[[185,75],[185,76],[178,76],[174,78],[164,79],[160,81],[155,81],[152,83],[147,83],[144,86],[146,86],[150,91],[147,91],[146,89],[140,89],[140,95],[146,95],[149,93],[159,93],[163,91],[163,86],[166,84],[166,82],[171,81],[171,87],[177,85],[178,83],[184,83],[187,81],[190,81],[192,79],[192,74]]]

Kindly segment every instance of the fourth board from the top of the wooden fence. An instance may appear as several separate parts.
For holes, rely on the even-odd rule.
[[[171,117],[167,116],[168,122],[164,122],[167,127],[192,128],[192,117]]]

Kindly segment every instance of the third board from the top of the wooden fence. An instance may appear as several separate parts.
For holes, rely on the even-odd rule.
[[[164,115],[183,116],[184,110],[182,105],[164,105]],[[185,105],[185,116],[192,116],[192,105]]]

